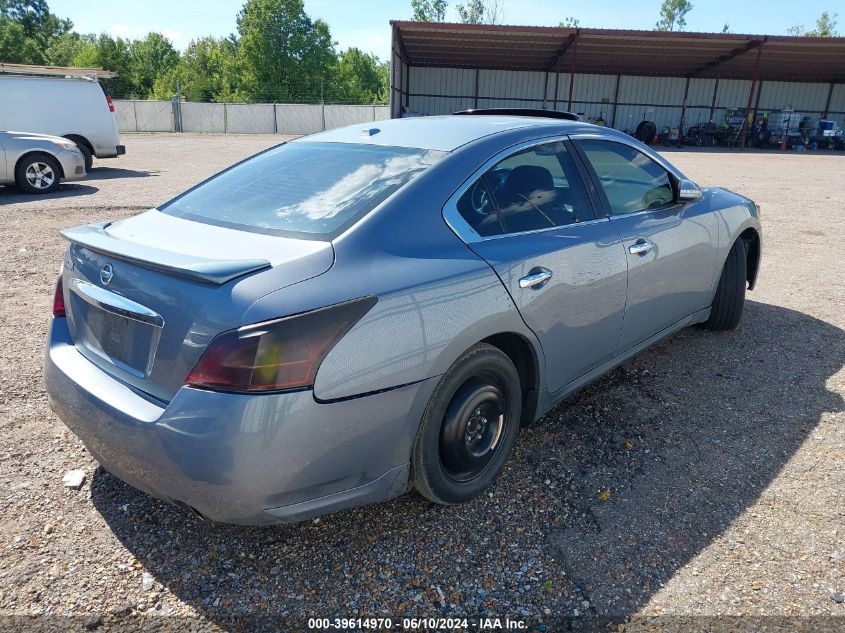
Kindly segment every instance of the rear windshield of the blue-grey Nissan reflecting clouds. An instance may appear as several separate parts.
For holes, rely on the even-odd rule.
[[[235,165],[159,210],[260,233],[331,239],[445,152],[288,143]]]

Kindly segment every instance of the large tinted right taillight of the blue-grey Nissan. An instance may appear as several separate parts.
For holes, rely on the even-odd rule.
[[[185,378],[217,391],[279,391],[314,384],[332,347],[376,303],[362,297],[217,335]]]

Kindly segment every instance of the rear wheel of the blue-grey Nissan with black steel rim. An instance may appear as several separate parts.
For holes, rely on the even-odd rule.
[[[519,433],[519,374],[499,349],[479,343],[440,379],[423,414],[412,481],[430,501],[463,503],[499,475]]]

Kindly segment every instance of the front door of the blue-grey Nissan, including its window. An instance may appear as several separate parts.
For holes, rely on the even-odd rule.
[[[718,226],[705,204],[682,203],[677,179],[627,143],[573,139],[598,183],[628,259],[619,351],[706,308]]]

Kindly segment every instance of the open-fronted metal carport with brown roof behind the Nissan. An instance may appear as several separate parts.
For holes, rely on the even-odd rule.
[[[531,107],[620,129],[792,108],[845,127],[845,38],[391,22],[391,116]]]

